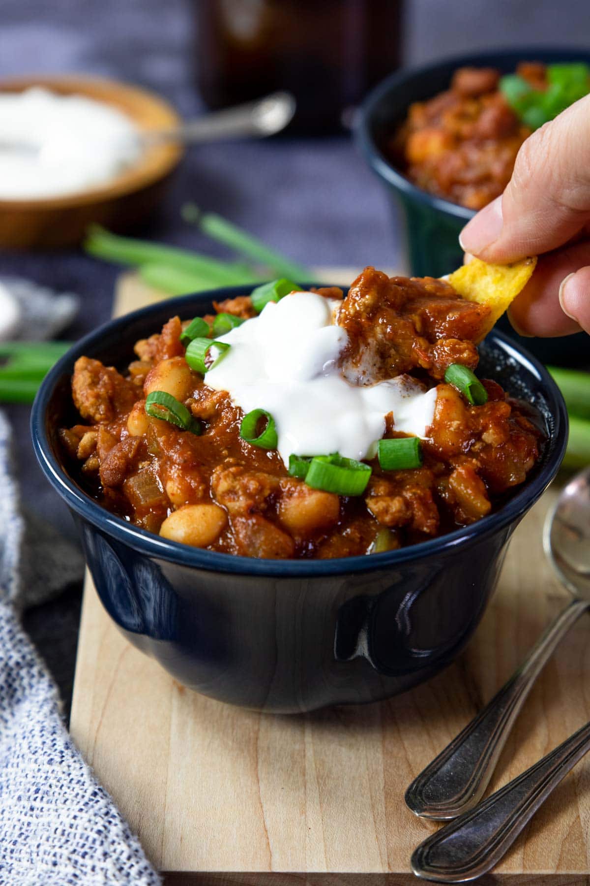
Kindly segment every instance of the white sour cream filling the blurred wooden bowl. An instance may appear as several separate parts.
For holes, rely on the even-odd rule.
[[[111,105],[40,87],[0,94],[0,199],[96,188],[141,154],[139,130]]]

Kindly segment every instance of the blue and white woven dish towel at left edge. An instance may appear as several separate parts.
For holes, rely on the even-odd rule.
[[[160,883],[73,746],[57,688],[19,624],[19,609],[81,568],[80,552],[50,526],[27,529],[0,412],[0,886]]]

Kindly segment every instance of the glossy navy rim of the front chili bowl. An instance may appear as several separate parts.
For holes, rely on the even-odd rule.
[[[254,286],[255,284],[252,284]],[[314,285],[314,284],[305,284]],[[57,491],[66,504],[83,520],[87,520],[98,530],[102,530],[116,540],[134,548],[141,553],[165,560],[171,563],[179,563],[184,566],[211,570],[218,572],[238,573],[244,576],[267,576],[269,578],[319,578],[322,576],[336,576],[353,574],[356,572],[370,572],[395,568],[396,565],[408,563],[411,560],[421,560],[431,555],[443,556],[451,550],[471,547],[482,537],[509,526],[519,517],[522,517],[539,499],[540,495],[548,487],[551,480],[556,476],[562,462],[567,445],[568,417],[565,403],[548,370],[538,361],[533,354],[525,351],[525,348],[510,341],[510,338],[501,332],[492,330],[489,334],[494,346],[500,346],[508,356],[516,359],[518,364],[533,374],[544,386],[548,406],[554,420],[554,429],[549,440],[550,452],[547,461],[542,465],[535,476],[526,482],[509,501],[506,501],[500,509],[482,517],[476,523],[461,527],[446,535],[435,539],[421,541],[407,548],[399,548],[395,551],[385,551],[380,554],[358,555],[349,557],[334,557],[326,560],[257,560],[254,557],[222,554],[217,551],[209,551],[203,548],[191,548],[177,541],[169,541],[160,536],[140,529],[121,517],[111,514],[97,501],[83,492],[65,470],[59,465],[53,455],[50,439],[47,433],[49,422],[47,410],[51,396],[62,377],[72,374],[73,362],[88,350],[92,354],[100,354],[100,341],[105,333],[123,331],[128,323],[149,319],[152,315],[160,315],[162,311],[169,316],[195,312],[195,306],[201,302],[211,303],[212,299],[233,298],[243,295],[245,289],[250,287],[229,286],[216,290],[207,290],[190,295],[180,296],[173,299],[165,299],[155,304],[141,307],[126,315],[117,317],[103,323],[96,330],[89,332],[73,345],[60,360],[50,369],[43,379],[42,385],[34,399],[31,411],[31,435],[33,439],[34,454],[41,465],[43,474],[49,480],[51,486]],[[348,287],[342,287],[348,291]],[[188,312],[188,307],[192,311]]]

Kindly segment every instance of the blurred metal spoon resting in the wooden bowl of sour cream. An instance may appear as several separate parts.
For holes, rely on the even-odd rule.
[[[234,138],[266,138],[287,126],[293,119],[295,105],[295,97],[290,92],[272,92],[254,102],[205,114],[178,127],[140,132],[138,138],[146,147],[162,142],[203,144]],[[37,154],[42,151],[42,145],[0,136],[0,151]]]

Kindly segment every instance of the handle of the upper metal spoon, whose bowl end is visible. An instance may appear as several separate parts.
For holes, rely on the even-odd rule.
[[[573,600],[486,707],[412,781],[405,796],[412,812],[427,819],[454,819],[479,802],[541,668],[588,606]]]

